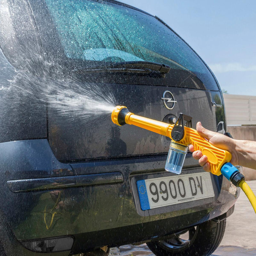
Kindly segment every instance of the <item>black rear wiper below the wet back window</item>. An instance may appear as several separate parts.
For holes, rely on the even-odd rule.
[[[112,64],[92,66],[77,71],[82,72],[128,72],[128,73],[161,73],[167,74],[171,67],[165,64],[149,61],[125,61]]]

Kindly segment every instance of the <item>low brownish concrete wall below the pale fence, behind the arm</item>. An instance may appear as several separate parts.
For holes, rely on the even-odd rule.
[[[230,132],[236,140],[256,141],[256,126],[254,125],[228,126],[228,132]],[[256,180],[256,170],[243,167],[243,174],[246,180]]]

